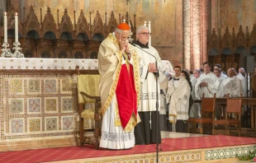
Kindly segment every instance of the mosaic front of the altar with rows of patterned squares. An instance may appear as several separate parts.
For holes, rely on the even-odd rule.
[[[73,137],[76,76],[0,73],[0,142],[22,138]]]

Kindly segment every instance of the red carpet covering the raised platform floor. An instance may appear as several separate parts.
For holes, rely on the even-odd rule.
[[[180,151],[189,149],[201,149],[211,147],[229,147],[247,144],[256,144],[253,137],[230,137],[224,135],[206,137],[184,137],[184,138],[164,138],[162,139],[163,151]],[[6,151],[0,152],[0,162],[4,163],[28,163],[46,161],[64,161],[74,159],[84,159],[102,156],[121,156],[140,153],[150,153],[156,151],[156,145],[140,145],[130,150],[95,150],[88,147],[59,147],[27,151]]]

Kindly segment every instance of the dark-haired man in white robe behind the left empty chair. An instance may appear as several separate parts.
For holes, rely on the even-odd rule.
[[[197,80],[197,84],[195,86],[195,92],[197,98],[201,99],[202,94],[205,97],[213,97],[215,93],[219,91],[220,81],[211,72],[210,63],[203,63],[204,74],[201,74],[201,77]]]

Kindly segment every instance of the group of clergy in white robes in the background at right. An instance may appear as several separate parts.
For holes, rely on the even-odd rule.
[[[201,105],[192,103],[205,97],[249,97],[249,75],[244,68],[229,68],[222,71],[220,64],[211,67],[203,63],[200,69],[181,70],[175,66],[173,72],[162,72],[159,77],[161,107],[160,114],[165,114],[167,121],[161,121],[161,130],[187,133],[187,119],[201,117]],[[188,77],[187,77],[188,76]],[[216,106],[216,119],[223,116],[225,108]],[[246,111],[246,106],[244,110]]]

